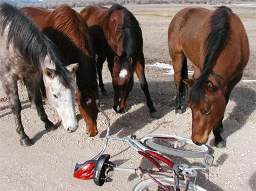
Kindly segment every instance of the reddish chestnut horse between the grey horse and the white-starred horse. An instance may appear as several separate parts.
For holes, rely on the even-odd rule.
[[[64,54],[68,64],[79,63],[76,70],[77,102],[86,122],[87,133],[95,136],[99,98],[95,54],[88,26],[82,16],[71,7],[64,5],[54,11],[40,7],[23,7],[36,26],[55,43]]]

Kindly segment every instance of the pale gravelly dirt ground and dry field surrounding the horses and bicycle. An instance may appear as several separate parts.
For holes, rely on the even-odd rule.
[[[164,62],[171,64],[167,46],[169,22],[177,11],[184,7],[207,7],[203,5],[130,5],[126,6],[139,20],[143,32],[144,53],[147,64]],[[250,60],[243,80],[256,79],[256,6],[229,5],[241,18],[250,42]],[[80,11],[80,8],[77,9]],[[100,96],[101,106],[108,114],[115,137],[129,137],[131,134],[142,137],[148,133],[171,134],[190,137],[191,112],[175,114],[175,90],[173,75],[166,75],[168,69],[147,67],[145,70],[151,98],[160,112],[160,119],[151,119],[145,96],[135,76],[134,89],[127,102],[127,112],[116,114],[113,109],[113,87],[106,67],[103,69],[107,96]],[[215,157],[209,173],[200,172],[197,184],[207,190],[256,190],[256,82],[239,82],[231,94],[224,117],[223,138],[226,148],[214,146],[213,134],[207,145]],[[75,163],[83,163],[97,155],[105,139],[106,121],[98,115],[99,134],[88,137],[85,122],[79,114],[79,129],[73,133],[59,127],[54,132],[46,132],[35,109],[30,108],[25,88],[20,87],[22,120],[33,146],[20,146],[19,135],[15,132],[14,120],[6,95],[0,90],[0,190],[131,190],[140,178],[126,171],[115,171],[114,182],[98,187],[93,180],[80,180],[73,177]],[[55,124],[60,121],[57,112],[46,105],[46,113]],[[105,151],[111,161],[125,168],[152,166],[126,143],[110,141]],[[168,156],[175,163],[200,164],[203,159],[178,158]]]

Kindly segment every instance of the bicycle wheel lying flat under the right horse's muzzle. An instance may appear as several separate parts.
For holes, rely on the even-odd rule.
[[[174,135],[154,135],[151,139],[145,140],[145,144],[161,153],[181,157],[199,158],[209,152],[205,145],[198,146],[189,138]]]

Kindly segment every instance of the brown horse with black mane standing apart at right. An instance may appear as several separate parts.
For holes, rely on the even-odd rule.
[[[174,67],[176,110],[181,109],[187,59],[195,67],[193,79],[183,79],[191,87],[193,142],[206,143],[213,130],[215,145],[226,146],[221,137],[224,111],[249,61],[249,43],[241,20],[225,6],[215,11],[182,9],[169,24],[168,46]]]

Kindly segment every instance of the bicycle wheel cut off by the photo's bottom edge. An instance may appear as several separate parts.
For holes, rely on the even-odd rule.
[[[163,185],[169,185],[168,189],[170,190],[174,190],[174,179],[171,177],[156,177],[156,180],[158,180],[159,182],[161,182],[161,184]],[[179,180],[179,186],[182,189],[186,188],[186,184],[183,180]],[[154,182],[152,179],[146,179],[143,180],[142,182],[139,182],[138,184],[136,184],[134,186],[134,188],[132,189],[132,191],[162,191],[163,189],[161,189],[161,187],[158,186],[158,184],[156,184],[156,182]],[[207,191],[205,189],[203,189],[202,187],[199,187],[198,185],[194,185],[190,182],[189,184],[189,189],[190,191]],[[163,190],[164,191],[164,190]]]

